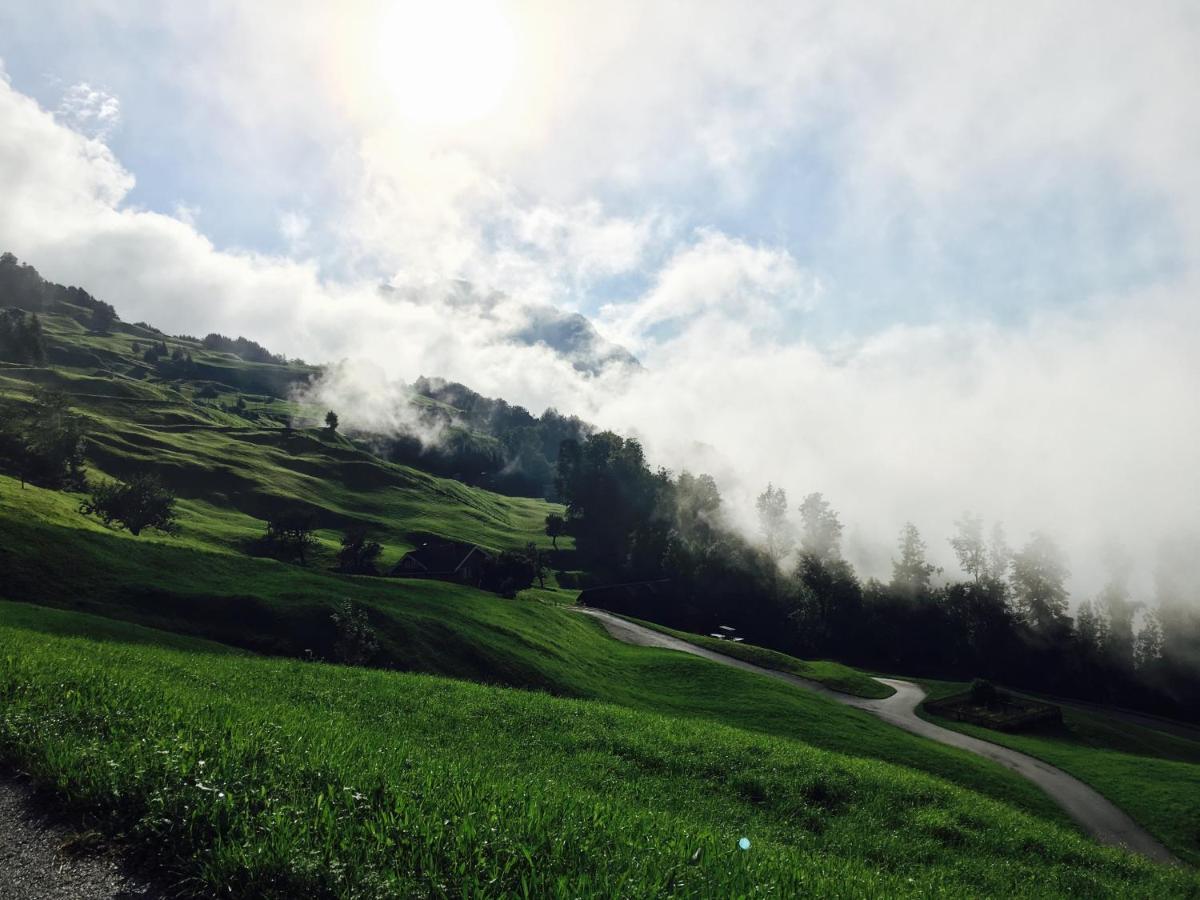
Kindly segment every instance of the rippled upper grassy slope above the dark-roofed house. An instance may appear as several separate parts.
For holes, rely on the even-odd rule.
[[[132,353],[132,342],[145,346],[149,335],[136,326],[124,326],[136,334],[102,336],[88,334],[66,316],[42,318],[52,349],[68,354],[72,362],[94,365],[0,366],[0,398],[22,402],[36,386],[64,390],[89,420],[94,474],[155,469],[197,514],[188,529],[192,541],[220,548],[258,538],[268,510],[287,503],[317,512],[326,551],[336,546],[338,529],[370,527],[384,544],[385,563],[409,550],[414,534],[440,534],[492,548],[550,544],[544,521],[558,509],[552,504],[390,464],[324,430],[284,432],[290,415],[316,419],[320,410],[300,409],[278,396],[222,384],[221,397],[202,400],[200,382],[160,379]],[[242,362],[176,338],[167,344],[234,383],[257,384],[265,377],[258,370],[271,370],[268,380],[282,395],[288,384],[299,384],[312,372]],[[101,364],[107,370],[96,368]],[[232,412],[239,396],[257,419]]]

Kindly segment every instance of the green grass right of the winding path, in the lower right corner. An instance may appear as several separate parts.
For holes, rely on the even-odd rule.
[[[931,698],[967,688],[953,682],[923,684]],[[1200,743],[1068,707],[1062,728],[1030,734],[926,718],[1069,772],[1138,820],[1181,859],[1200,865]]]

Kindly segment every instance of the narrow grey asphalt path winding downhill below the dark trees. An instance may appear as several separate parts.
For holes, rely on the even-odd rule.
[[[960,734],[956,731],[943,728],[919,718],[917,715],[917,706],[925,698],[925,692],[911,682],[901,682],[894,678],[877,678],[877,682],[893,688],[895,694],[884,700],[866,700],[864,697],[856,697],[850,694],[829,690],[816,682],[810,682],[788,672],[763,668],[762,666],[756,666],[752,662],[745,662],[703,647],[697,647],[696,644],[688,643],[686,641],[672,637],[671,635],[664,635],[659,631],[636,625],[632,622],[628,622],[619,616],[613,616],[612,613],[602,610],[581,608],[580,611],[599,619],[604,624],[605,629],[607,629],[608,634],[618,641],[637,644],[640,647],[660,647],[668,650],[690,653],[694,656],[702,656],[725,666],[732,666],[748,672],[756,672],[776,680],[788,682],[790,684],[794,684],[805,690],[829,697],[839,703],[844,703],[845,706],[863,709],[878,716],[889,725],[904,728],[913,734],[919,734],[923,738],[936,740],[940,744],[947,744],[972,754],[978,754],[979,756],[991,760],[992,762],[1000,763],[1007,769],[1012,769],[1016,774],[1022,775],[1036,784],[1045,791],[1055,803],[1062,806],[1063,811],[1066,811],[1068,816],[1079,822],[1084,830],[1096,838],[1096,840],[1100,844],[1124,847],[1128,851],[1140,853],[1141,856],[1153,859],[1157,863],[1180,864],[1178,859],[1176,859],[1166,847],[1151,836],[1146,829],[1129,818],[1129,816],[1120,809],[1114,806],[1102,794],[1097,793],[1079,779],[1068,775],[1062,769],[1056,769],[1054,766],[1049,766],[1040,760],[1026,756],[1016,750],[1009,750],[1008,748],[1000,746],[998,744],[979,740],[978,738],[970,737],[968,734]]]

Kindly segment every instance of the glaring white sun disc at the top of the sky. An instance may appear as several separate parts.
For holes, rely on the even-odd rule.
[[[490,0],[416,0],[383,12],[376,73],[406,119],[460,125],[494,112],[516,65],[512,26]]]

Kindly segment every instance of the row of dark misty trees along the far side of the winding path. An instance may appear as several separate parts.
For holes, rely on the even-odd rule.
[[[1067,560],[1044,532],[1012,547],[1002,527],[964,515],[948,536],[960,571],[944,574],[906,523],[882,581],[845,558],[844,526],[821,493],[792,508],[768,485],[754,541],[728,523],[712,478],[654,469],[637,440],[611,432],[564,442],[556,482],[566,512],[546,530],[575,538],[576,568],[596,583],[654,583],[624,612],[696,631],[731,624],[755,643],[882,671],[1200,709],[1195,588],[1170,565],[1150,606],[1132,596],[1132,563],[1115,559],[1104,590],[1073,617]]]

